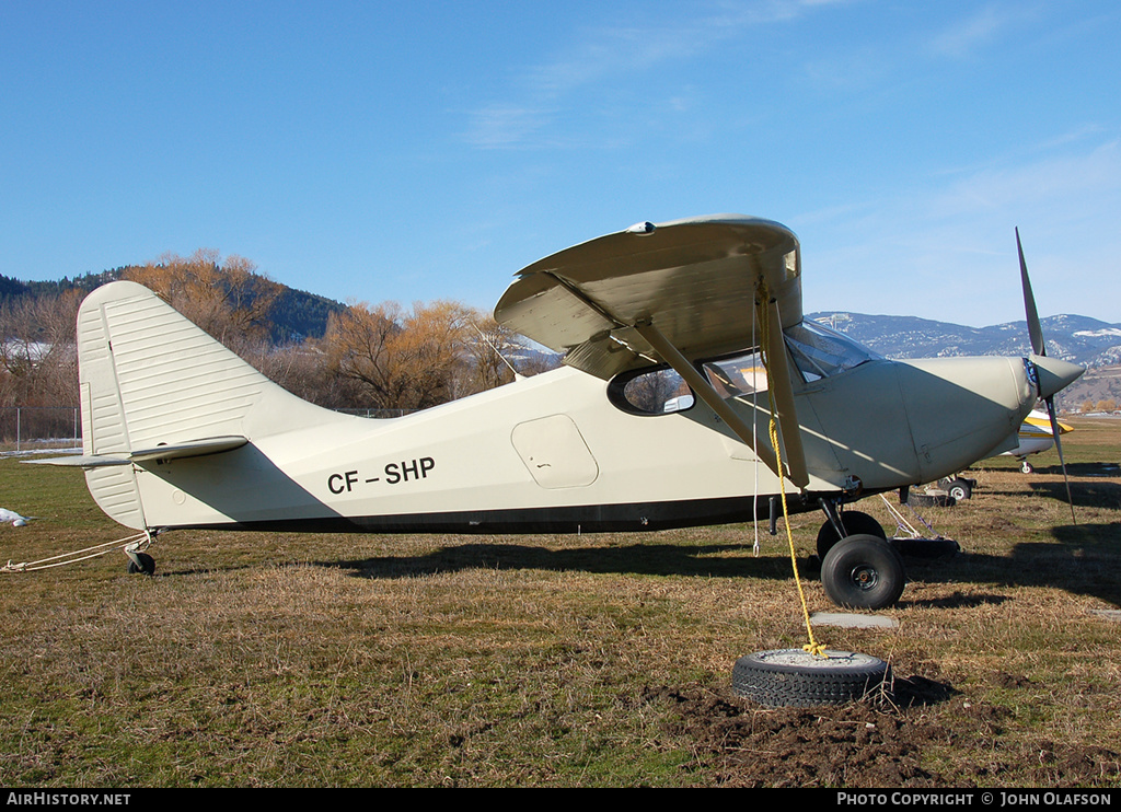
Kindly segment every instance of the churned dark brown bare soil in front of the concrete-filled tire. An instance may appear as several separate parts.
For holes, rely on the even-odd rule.
[[[1012,678],[1015,681],[1015,678]],[[1038,741],[1019,752],[1001,743],[1010,711],[961,701],[948,684],[896,679],[891,697],[818,708],[763,708],[731,690],[651,689],[673,703],[674,732],[694,743],[697,768],[734,787],[944,787],[963,785],[962,764],[932,766],[932,753],[975,753],[979,786],[1114,785],[1121,757],[1100,747]]]

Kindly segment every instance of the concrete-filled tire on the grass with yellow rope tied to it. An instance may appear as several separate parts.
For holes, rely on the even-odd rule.
[[[859,700],[884,681],[888,664],[868,654],[798,648],[756,652],[735,661],[732,691],[769,708],[810,708]]]

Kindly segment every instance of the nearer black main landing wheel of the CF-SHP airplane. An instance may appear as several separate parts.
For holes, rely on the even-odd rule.
[[[822,559],[822,585],[839,606],[882,609],[899,600],[907,569],[890,542],[876,535],[850,535]]]

